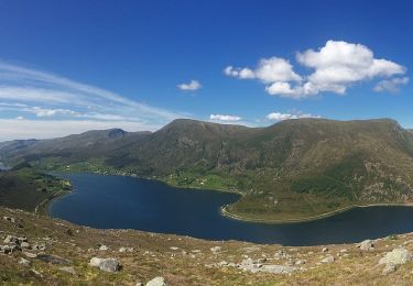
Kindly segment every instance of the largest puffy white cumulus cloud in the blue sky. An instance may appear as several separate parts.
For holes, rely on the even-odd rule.
[[[256,69],[228,66],[225,74],[240,79],[259,79],[265,85],[265,91],[272,96],[287,98],[307,98],[319,92],[344,95],[355,84],[384,78],[383,87],[374,90],[383,91],[384,86],[404,85],[401,76],[406,68],[384,58],[376,58],[373,52],[362,44],[344,41],[328,41],[317,51],[307,50],[296,54],[300,65],[309,68],[308,75],[297,75],[286,59],[271,57],[261,59]],[[405,81],[405,80],[404,80]]]

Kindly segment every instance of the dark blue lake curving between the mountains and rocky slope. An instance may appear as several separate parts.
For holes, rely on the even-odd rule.
[[[52,217],[100,229],[137,229],[208,240],[241,240],[284,245],[360,242],[413,231],[412,207],[357,208],[300,223],[267,224],[222,217],[236,194],[188,190],[161,182],[94,174],[62,175],[74,193],[48,208]]]

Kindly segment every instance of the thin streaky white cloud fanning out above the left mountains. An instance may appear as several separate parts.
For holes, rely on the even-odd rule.
[[[14,129],[26,131],[23,123],[39,127],[40,122],[50,122],[46,133],[42,129],[37,133],[33,133],[36,129],[26,133],[34,138],[68,134],[72,130],[86,131],[98,127],[154,130],[184,117],[96,86],[6,62],[0,62],[0,110],[7,111],[1,113],[0,120],[9,122],[4,120],[14,119],[9,122],[13,123]],[[77,128],[62,129],[57,122]],[[56,127],[55,132],[52,132],[53,127]],[[13,139],[19,132],[2,129],[2,136]]]

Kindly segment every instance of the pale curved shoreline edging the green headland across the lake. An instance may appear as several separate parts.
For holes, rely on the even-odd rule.
[[[269,223],[269,224],[287,224],[287,223],[300,223],[300,222],[308,222],[308,221],[315,221],[319,219],[325,219],[329,218],[333,216],[336,216],[338,213],[346,212],[351,209],[356,208],[371,208],[371,207],[413,207],[413,202],[381,202],[381,204],[368,204],[368,205],[354,205],[354,206],[348,206],[344,207],[337,210],[333,210],[329,212],[324,212],[320,215],[312,216],[312,217],[306,217],[306,218],[297,218],[297,219],[260,219],[260,218],[251,218],[251,217],[243,217],[239,216],[236,213],[229,212],[226,208],[227,206],[224,206],[220,208],[220,213],[221,216],[238,220],[238,221],[246,221],[246,222],[259,222],[259,223]]]

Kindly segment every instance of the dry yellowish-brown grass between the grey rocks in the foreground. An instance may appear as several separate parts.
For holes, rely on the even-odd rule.
[[[378,261],[389,251],[404,245],[413,251],[412,234],[398,234],[374,241],[374,250],[362,252],[357,244],[290,248],[253,244],[238,241],[205,241],[187,237],[156,234],[133,230],[97,230],[75,226],[62,220],[0,207],[0,218],[14,218],[22,228],[0,220],[1,235],[25,235],[31,244],[45,242],[46,254],[70,261],[76,274],[59,270],[61,265],[35,258],[30,266],[19,264],[24,254],[0,254],[0,284],[8,285],[135,285],[156,276],[165,277],[169,285],[411,285],[413,262],[401,265],[395,273],[381,274]],[[68,234],[70,230],[73,234]],[[98,244],[110,248],[101,252]],[[210,248],[221,246],[218,254]],[[132,246],[131,253],[120,253],[120,246]],[[322,252],[327,246],[328,252]],[[171,248],[177,248],[173,250]],[[192,254],[193,250],[200,253]],[[283,250],[290,258],[275,260],[274,253]],[[346,250],[345,252],[341,252]],[[33,251],[31,251],[33,252]],[[327,254],[335,257],[332,264],[319,264]],[[346,256],[344,255],[346,254]],[[216,266],[221,261],[240,263],[246,255],[252,260],[267,257],[264,264],[284,265],[305,260],[304,272],[291,275],[243,272],[236,267]],[[105,273],[88,266],[91,257],[115,257],[122,264],[119,273]],[[28,258],[28,257],[26,257]],[[32,270],[42,274],[35,275]]]

